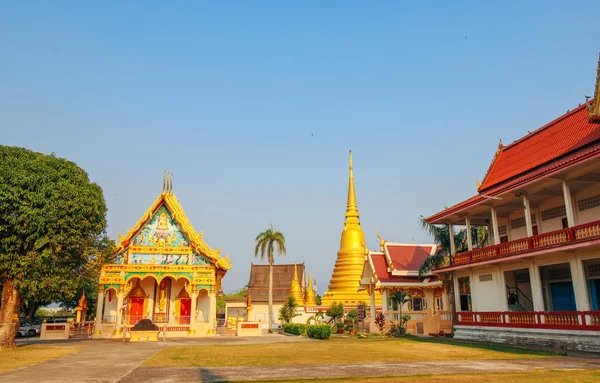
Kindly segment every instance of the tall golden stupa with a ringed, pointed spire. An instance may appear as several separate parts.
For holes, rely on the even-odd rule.
[[[323,294],[322,305],[331,306],[334,302],[341,302],[345,307],[356,307],[360,302],[369,302],[369,294],[359,290],[360,279],[364,265],[365,234],[360,227],[356,192],[354,191],[354,173],[352,170],[352,151],[350,151],[350,179],[348,183],[348,203],[346,207],[346,220],[340,251],[329,282],[329,291]],[[375,301],[381,302],[381,295],[375,292]]]

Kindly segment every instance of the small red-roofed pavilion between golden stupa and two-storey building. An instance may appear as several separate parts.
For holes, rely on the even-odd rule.
[[[452,310],[447,286],[431,273],[419,275],[423,261],[435,254],[437,246],[392,243],[379,237],[379,247],[379,251],[367,251],[360,281],[361,290],[367,291],[370,297],[369,316],[365,320],[370,331],[379,332],[373,321],[377,313],[375,294],[381,294],[381,312],[386,316],[385,331],[389,329],[390,321],[398,323],[400,315],[391,295],[404,291],[409,301],[402,307],[402,315],[410,316],[406,324],[409,334],[451,333]]]

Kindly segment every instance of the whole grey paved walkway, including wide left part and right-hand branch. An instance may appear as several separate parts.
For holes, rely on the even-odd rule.
[[[600,369],[600,358],[552,357],[509,360],[468,360],[414,363],[361,363],[281,365],[253,367],[150,367],[142,364],[169,346],[209,344],[263,344],[319,342],[303,337],[182,338],[167,342],[122,343],[118,340],[68,340],[19,342],[53,347],[81,348],[82,351],[0,374],[0,382],[227,382],[264,379],[340,378],[346,376],[402,376],[510,372],[534,369]],[[1,361],[0,361],[1,362]]]

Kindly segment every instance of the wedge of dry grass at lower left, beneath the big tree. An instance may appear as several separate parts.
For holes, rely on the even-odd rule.
[[[78,348],[21,346],[0,351],[0,373],[78,352]]]

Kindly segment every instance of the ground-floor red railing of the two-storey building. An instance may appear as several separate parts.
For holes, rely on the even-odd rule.
[[[600,311],[462,311],[456,317],[460,326],[600,330]]]

